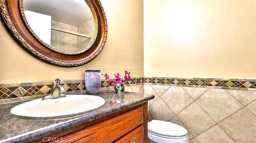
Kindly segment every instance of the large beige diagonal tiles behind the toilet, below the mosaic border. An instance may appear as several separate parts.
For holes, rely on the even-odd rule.
[[[185,127],[191,143],[256,142],[256,91],[144,84],[149,121]]]

